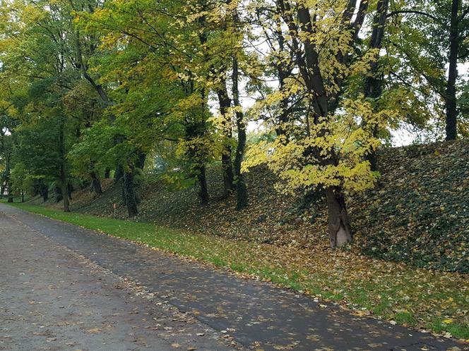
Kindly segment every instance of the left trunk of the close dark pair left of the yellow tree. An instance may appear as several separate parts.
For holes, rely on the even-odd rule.
[[[222,115],[222,134],[225,140],[229,143],[232,138],[231,118],[228,115],[231,107],[231,99],[228,96],[228,90],[226,86],[225,78],[221,78],[220,87],[216,90],[218,96],[218,103],[220,104],[220,113]],[[230,144],[225,144],[222,153],[222,170],[223,170],[223,187],[225,190],[225,196],[235,188],[233,182],[233,166],[231,161],[232,149]]]

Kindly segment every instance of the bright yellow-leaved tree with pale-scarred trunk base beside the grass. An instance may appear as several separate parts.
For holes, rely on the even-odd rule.
[[[307,109],[302,124],[285,123],[289,137],[280,136],[273,143],[251,149],[244,168],[267,162],[285,180],[287,191],[323,188],[329,239],[331,247],[336,247],[352,240],[345,191],[372,187],[375,178],[362,157],[379,141],[357,125],[357,118],[383,123],[389,111],[374,113],[363,97],[348,99],[348,80],[366,73],[374,61],[374,51],[356,54],[367,1],[309,5],[304,1],[275,2],[282,20],[280,28],[287,30],[284,37],[290,38],[288,45],[295,52],[292,58],[283,59],[291,60],[298,73],[289,77],[282,91],[266,99],[271,103],[283,99],[284,94],[304,92]]]

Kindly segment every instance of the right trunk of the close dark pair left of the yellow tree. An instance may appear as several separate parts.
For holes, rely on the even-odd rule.
[[[237,15],[236,15],[237,18]],[[239,102],[239,68],[238,60],[233,58],[233,103],[235,107],[240,107]],[[236,128],[238,133],[238,144],[235,155],[235,184],[236,184],[236,209],[238,211],[247,207],[247,187],[244,175],[241,172],[241,165],[244,158],[244,149],[246,149],[246,124],[244,123],[244,113],[236,109]]]

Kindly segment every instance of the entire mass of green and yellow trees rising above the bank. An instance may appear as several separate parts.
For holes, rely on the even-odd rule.
[[[208,204],[220,164],[242,210],[266,164],[280,192],[326,198],[336,247],[393,130],[468,137],[465,0],[0,4],[2,194],[50,188],[69,211],[73,187],[113,176],[133,217],[148,173]]]

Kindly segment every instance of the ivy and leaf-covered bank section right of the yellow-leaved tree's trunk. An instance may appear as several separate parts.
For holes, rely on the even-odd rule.
[[[376,257],[469,271],[469,143],[381,153],[376,191],[353,203],[357,245]]]

